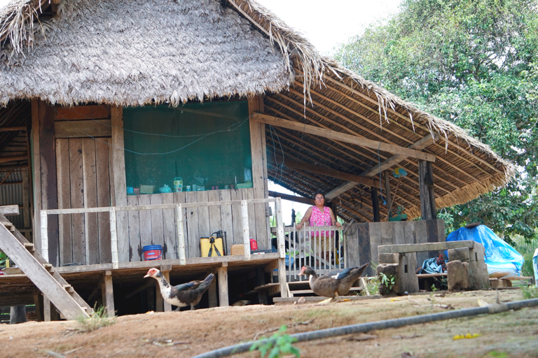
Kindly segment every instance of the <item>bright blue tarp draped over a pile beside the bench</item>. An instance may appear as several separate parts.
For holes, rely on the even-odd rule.
[[[471,229],[464,227],[448,234],[446,241],[472,240],[484,245],[485,264],[488,273],[507,272],[520,275],[523,266],[523,256],[512,248],[502,238],[499,238],[489,227],[478,225]]]

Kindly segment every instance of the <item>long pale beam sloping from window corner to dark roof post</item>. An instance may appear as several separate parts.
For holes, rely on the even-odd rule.
[[[406,155],[407,157],[413,157],[417,159],[427,160],[428,162],[434,162],[436,156],[425,152],[419,152],[409,148],[399,147],[398,145],[392,145],[387,143],[381,143],[379,141],[372,141],[368,138],[361,138],[358,136],[352,136],[350,134],[341,133],[338,131],[331,131],[329,129],[323,129],[319,127],[311,126],[310,124],[298,124],[289,120],[282,120],[282,118],[273,117],[271,115],[263,115],[256,113],[251,117],[251,120],[256,122],[262,122],[265,124],[271,124],[277,127],[283,127],[292,129],[294,131],[304,131],[308,134],[314,134],[316,136],[322,136],[325,138],[334,139],[337,141],[343,141],[360,145],[362,147],[371,148],[374,150],[380,150],[382,152],[391,152],[399,155]]]

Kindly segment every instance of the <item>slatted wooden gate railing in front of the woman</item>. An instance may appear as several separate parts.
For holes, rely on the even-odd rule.
[[[277,227],[271,229],[277,232]],[[288,244],[288,282],[308,280],[298,275],[305,265],[314,268],[319,275],[347,267],[347,243],[343,227],[309,227],[305,223],[301,229],[297,229],[294,224],[293,227],[284,227],[284,240]]]

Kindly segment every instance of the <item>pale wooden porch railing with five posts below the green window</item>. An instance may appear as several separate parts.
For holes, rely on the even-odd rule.
[[[275,232],[277,235],[277,245],[279,257],[284,259],[286,252],[284,249],[284,224],[282,222],[282,203],[280,198],[269,199],[247,199],[232,201],[209,201],[203,203],[172,203],[172,204],[155,204],[140,206],[110,206],[102,208],[76,208],[76,209],[50,209],[41,210],[41,255],[48,261],[48,220],[47,215],[71,215],[83,213],[106,213],[110,214],[110,237],[111,237],[111,255],[112,268],[119,267],[118,259],[118,234],[116,229],[116,212],[128,210],[155,210],[155,209],[175,209],[176,229],[177,229],[177,246],[179,251],[179,264],[186,264],[185,252],[185,235],[183,226],[183,208],[199,208],[202,206],[241,206],[242,214],[242,232],[244,244],[244,260],[250,260],[250,233],[249,233],[249,204],[257,203],[275,203],[276,224]]]

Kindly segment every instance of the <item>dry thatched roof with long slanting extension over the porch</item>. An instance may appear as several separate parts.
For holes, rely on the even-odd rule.
[[[46,38],[39,25],[32,31],[25,27],[37,13],[36,0],[13,0],[0,10],[0,38],[8,39],[0,52],[3,103],[40,96],[62,104],[177,104],[265,93],[269,115],[376,141],[407,147],[438,133],[439,140],[425,148],[437,155],[438,208],[474,199],[513,176],[514,166],[488,145],[322,57],[304,36],[255,1],[62,0],[55,17],[42,22]],[[34,31],[32,49],[27,49],[25,38]],[[285,158],[355,175],[391,156],[288,129],[267,131],[268,151],[282,155],[282,145]],[[396,205],[418,216],[417,161],[402,159],[396,166],[408,172]],[[344,183],[289,169],[285,160],[278,168],[270,165],[268,173],[305,196]],[[393,190],[396,183],[393,178]],[[357,185],[336,199],[347,220],[372,219],[366,189]]]

